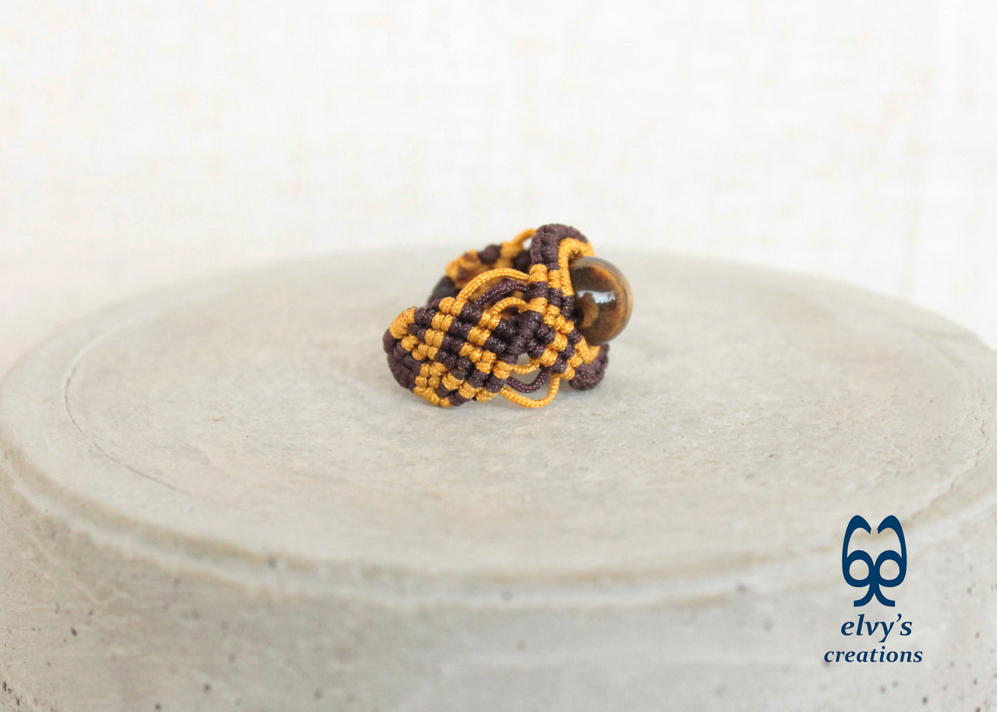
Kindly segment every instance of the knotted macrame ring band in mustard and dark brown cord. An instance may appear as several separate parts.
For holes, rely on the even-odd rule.
[[[574,259],[593,254],[578,230],[548,224],[458,257],[427,305],[406,309],[385,332],[395,380],[444,408],[497,395],[539,408],[561,379],[582,391],[594,387],[609,346],[589,345],[578,330],[569,272]],[[523,354],[529,362],[519,364]],[[534,372],[529,382],[517,378]],[[547,383],[543,398],[522,395]]]

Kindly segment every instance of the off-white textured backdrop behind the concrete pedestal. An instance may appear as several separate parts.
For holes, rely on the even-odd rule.
[[[3,0],[0,372],[180,276],[549,221],[997,344],[995,37],[985,0]]]

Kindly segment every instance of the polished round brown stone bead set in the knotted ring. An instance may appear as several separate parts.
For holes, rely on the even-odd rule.
[[[630,319],[630,284],[623,272],[598,257],[578,257],[568,271],[574,287],[575,326],[592,346],[606,343]]]

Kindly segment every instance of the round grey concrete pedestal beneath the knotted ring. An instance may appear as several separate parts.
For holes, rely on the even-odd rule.
[[[182,285],[24,359],[0,390],[0,708],[991,699],[997,356],[841,285],[600,256],[632,320],[602,385],[538,411],[391,378],[381,334],[446,255]],[[903,524],[897,608],[865,612],[914,619],[919,665],[823,664],[859,612],[853,514]]]

